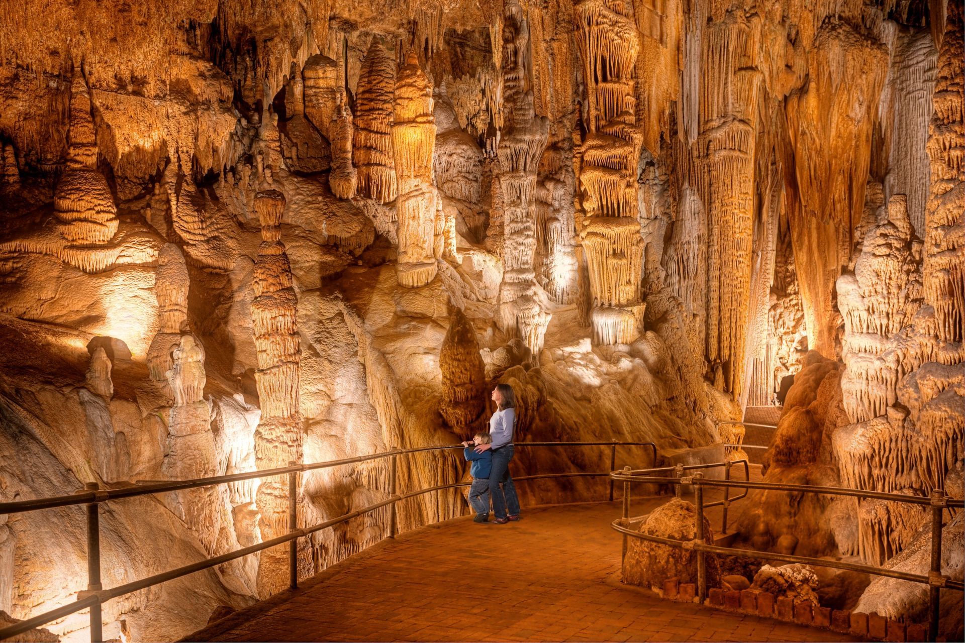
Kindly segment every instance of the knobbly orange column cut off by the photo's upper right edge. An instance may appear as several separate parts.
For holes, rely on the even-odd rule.
[[[935,310],[938,338],[965,340],[965,43],[962,7],[949,3],[938,53],[928,125],[931,189],[924,226],[924,300]]]

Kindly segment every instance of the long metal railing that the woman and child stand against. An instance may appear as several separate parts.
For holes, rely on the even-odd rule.
[[[610,469],[616,468],[617,461],[617,447],[618,446],[647,446],[650,448],[653,454],[653,464],[656,464],[657,449],[656,444],[653,442],[516,442],[515,446],[518,447],[559,447],[559,446],[609,446],[610,451]],[[0,640],[10,638],[16,634],[23,633],[27,630],[33,630],[34,628],[46,625],[51,621],[56,621],[57,619],[64,618],[69,614],[74,612],[79,612],[82,609],[91,609],[91,641],[99,642],[102,640],[102,630],[101,630],[101,614],[100,605],[106,603],[111,599],[116,599],[124,594],[130,594],[131,592],[136,592],[138,590],[151,587],[152,585],[157,585],[168,580],[173,580],[181,576],[187,576],[189,574],[194,574],[195,572],[201,572],[208,568],[214,567],[216,565],[221,565],[222,563],[227,563],[234,560],[235,558],[241,558],[252,553],[257,553],[263,549],[270,549],[277,547],[279,545],[284,545],[286,543],[292,543],[289,548],[289,584],[290,588],[294,589],[298,586],[298,571],[297,571],[297,540],[299,538],[304,538],[311,533],[320,531],[322,529],[327,529],[328,527],[335,526],[342,522],[350,521],[353,518],[358,518],[364,514],[375,511],[382,507],[390,507],[389,513],[389,525],[388,525],[388,537],[395,538],[396,536],[396,504],[401,500],[406,498],[422,496],[423,494],[428,494],[430,492],[442,491],[445,489],[455,489],[458,487],[468,487],[470,483],[468,482],[457,482],[448,485],[436,485],[434,487],[427,487],[426,489],[418,489],[412,492],[407,492],[404,494],[399,494],[396,491],[397,482],[397,471],[398,471],[398,461],[400,456],[410,455],[413,453],[422,453],[425,451],[444,451],[448,449],[461,449],[463,448],[461,444],[445,444],[440,446],[422,446],[416,448],[407,449],[394,449],[392,451],[385,451],[382,453],[373,453],[372,455],[358,456],[355,458],[344,458],[342,460],[329,460],[326,462],[316,462],[308,464],[294,464],[292,463],[289,467],[280,467],[277,469],[262,469],[255,471],[246,471],[244,473],[232,473],[228,475],[216,475],[207,478],[196,478],[192,480],[176,480],[176,481],[165,481],[165,482],[148,482],[142,484],[136,484],[133,486],[118,487],[115,489],[99,489],[96,483],[90,483],[86,486],[85,491],[79,492],[77,494],[70,494],[67,496],[53,496],[44,497],[34,500],[17,500],[15,502],[0,502],[0,515],[3,514],[15,514],[24,513],[28,511],[38,511],[41,509],[52,509],[55,507],[69,507],[72,505],[87,505],[87,572],[88,572],[88,587],[86,591],[77,593],[77,600],[73,603],[68,603],[52,609],[50,611],[38,614],[32,618],[20,621],[12,626],[0,630]],[[362,462],[369,462],[372,460],[389,460],[389,497],[381,502],[376,502],[362,509],[358,509],[351,513],[339,516],[329,521],[319,522],[308,527],[298,527],[298,514],[297,514],[297,496],[298,496],[298,474],[303,471],[312,471],[317,469],[331,469],[333,467],[341,467],[345,465],[353,465]],[[185,565],[179,567],[178,569],[170,570],[168,572],[162,572],[161,574],[155,574],[153,576],[148,576],[146,578],[141,578],[140,580],[134,580],[132,582],[125,583],[124,585],[118,585],[117,587],[112,587],[109,589],[103,589],[100,582],[100,527],[99,518],[97,515],[97,505],[102,502],[108,502],[111,500],[120,500],[129,497],[136,496],[149,496],[152,494],[160,494],[167,492],[178,492],[187,489],[198,489],[201,487],[213,487],[217,485],[228,484],[231,482],[239,482],[241,480],[254,480],[258,478],[268,478],[276,475],[288,475],[289,476],[289,533],[284,536],[279,536],[277,538],[272,538],[271,540],[263,541],[257,545],[252,545],[243,549],[235,549],[228,553],[221,554],[219,556],[214,556],[211,558],[206,558],[205,560],[192,563],[190,565]],[[609,476],[610,471],[575,471],[569,473],[539,473],[536,475],[523,475],[519,477],[513,477],[514,481],[524,481],[524,480],[539,480],[543,478],[564,478],[564,477],[594,477],[594,476]],[[613,499],[613,481],[610,481],[610,499]]]

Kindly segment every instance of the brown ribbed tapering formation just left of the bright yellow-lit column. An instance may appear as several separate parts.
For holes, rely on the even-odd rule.
[[[359,194],[381,203],[394,200],[398,190],[392,151],[395,85],[395,62],[372,39],[355,96],[352,164],[358,172]]]

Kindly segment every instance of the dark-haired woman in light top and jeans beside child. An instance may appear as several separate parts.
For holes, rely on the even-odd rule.
[[[492,511],[496,524],[506,524],[519,520],[519,498],[510,477],[512,460],[512,431],[516,426],[516,395],[508,384],[497,384],[492,389],[492,401],[496,403],[496,413],[489,418],[491,444],[480,444],[477,453],[492,449],[492,469],[489,470],[489,497],[492,498]],[[500,491],[499,485],[503,485]],[[504,498],[505,496],[505,498]],[[507,514],[509,508],[509,514]]]

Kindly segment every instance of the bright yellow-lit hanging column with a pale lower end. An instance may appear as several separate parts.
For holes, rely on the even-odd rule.
[[[392,146],[396,160],[399,197],[400,285],[415,288],[435,277],[434,250],[436,194],[432,185],[432,148],[435,118],[432,116],[432,84],[410,51],[396,79]]]

